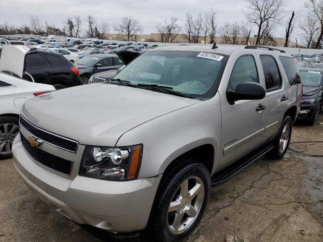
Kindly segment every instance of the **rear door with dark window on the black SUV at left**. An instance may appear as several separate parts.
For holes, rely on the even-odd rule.
[[[55,74],[53,68],[41,53],[30,53],[25,56],[25,72],[29,73],[35,82],[43,84],[49,84]],[[23,78],[30,80],[30,77],[26,74],[23,75]]]

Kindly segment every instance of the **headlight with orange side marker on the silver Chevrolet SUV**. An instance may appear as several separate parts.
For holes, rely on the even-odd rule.
[[[128,180],[137,178],[142,145],[128,147],[93,147],[84,151],[80,175],[94,178]]]

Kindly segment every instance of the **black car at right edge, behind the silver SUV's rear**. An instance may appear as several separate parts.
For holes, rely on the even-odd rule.
[[[303,97],[298,118],[306,119],[310,125],[315,125],[323,105],[323,68],[300,68],[299,72],[303,84]]]

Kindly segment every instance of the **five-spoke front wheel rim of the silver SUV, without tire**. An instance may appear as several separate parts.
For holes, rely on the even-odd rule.
[[[204,200],[204,184],[198,176],[185,179],[177,188],[168,208],[167,225],[171,233],[189,229],[197,218]]]

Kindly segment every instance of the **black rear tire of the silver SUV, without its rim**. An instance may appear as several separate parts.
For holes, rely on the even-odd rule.
[[[289,136],[288,136],[288,141],[286,143],[285,148],[283,148],[283,150],[280,148],[280,144],[281,144],[281,137],[282,137],[282,133],[284,130],[284,127],[286,125],[289,125]],[[282,159],[286,153],[286,151],[288,150],[288,146],[289,143],[291,141],[291,135],[292,135],[292,128],[293,128],[293,120],[290,116],[286,116],[284,117],[281,126],[279,128],[279,131],[273,141],[273,145],[274,148],[267,154],[267,157],[271,158],[271,159]]]

